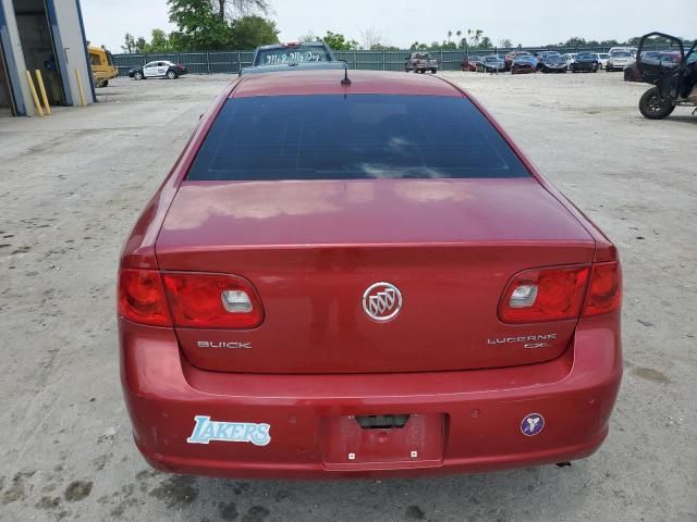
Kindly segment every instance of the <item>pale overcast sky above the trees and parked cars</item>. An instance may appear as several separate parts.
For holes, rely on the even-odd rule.
[[[269,0],[281,41],[302,35],[341,33],[363,41],[366,30],[386,45],[430,44],[461,29],[482,29],[491,41],[545,46],[579,36],[624,40],[651,30],[697,38],[697,0]],[[149,39],[169,23],[167,0],[81,0],[87,39],[121,52],[125,33]],[[524,8],[521,8],[525,5]]]

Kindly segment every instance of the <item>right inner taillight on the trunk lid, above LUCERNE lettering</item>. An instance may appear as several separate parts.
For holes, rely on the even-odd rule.
[[[501,321],[538,323],[577,319],[589,271],[588,266],[561,266],[521,272],[503,293],[499,304]]]

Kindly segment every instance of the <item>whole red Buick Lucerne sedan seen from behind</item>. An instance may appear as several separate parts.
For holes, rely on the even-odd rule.
[[[588,457],[622,374],[614,246],[456,85],[343,79],[233,82],[137,221],[138,449],[230,477]]]

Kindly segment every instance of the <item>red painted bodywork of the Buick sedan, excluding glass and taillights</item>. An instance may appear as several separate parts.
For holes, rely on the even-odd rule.
[[[468,97],[431,77],[350,76],[351,87],[341,86],[335,71],[233,83],[201,117],[136,223],[122,269],[242,275],[266,312],[259,327],[234,331],[266,350],[242,350],[246,355],[205,352],[196,345],[230,340],[232,331],[119,318],[121,378],[137,447],[160,470],[252,477],[473,472],[589,456],[608,433],[620,386],[620,310],[539,325],[559,341],[538,351],[477,349],[476,343],[486,345],[490,332],[530,332],[530,325],[504,324],[492,312],[513,273],[613,261],[616,251],[476,100],[530,178],[184,182],[230,97],[346,90]],[[463,265],[466,276],[457,277]],[[390,323],[387,337],[367,328],[358,307],[342,311],[327,301],[346,303],[356,288],[386,277],[400,277],[411,295],[426,296],[405,304],[401,319],[411,314],[408,321]],[[479,301],[453,313],[452,285]],[[439,288],[444,306],[436,299]],[[313,296],[331,310],[325,324],[319,308],[307,306]],[[466,341],[453,341],[457,335]],[[545,417],[537,436],[522,433],[531,413]],[[363,430],[355,422],[396,414],[412,417],[402,428]],[[266,423],[270,443],[189,444],[199,415]]]

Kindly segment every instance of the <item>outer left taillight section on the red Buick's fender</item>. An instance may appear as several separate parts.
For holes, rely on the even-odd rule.
[[[119,315],[134,323],[171,326],[159,272],[124,269],[119,273]]]

